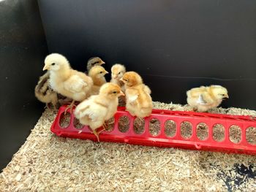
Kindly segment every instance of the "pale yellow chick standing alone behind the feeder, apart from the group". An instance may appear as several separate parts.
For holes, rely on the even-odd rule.
[[[187,103],[198,112],[207,112],[218,107],[223,99],[227,99],[227,89],[220,85],[201,86],[187,91]]]

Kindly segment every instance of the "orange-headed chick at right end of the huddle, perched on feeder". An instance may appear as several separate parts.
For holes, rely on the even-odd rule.
[[[151,115],[153,104],[151,90],[143,84],[143,80],[136,72],[126,72],[121,81],[125,85],[126,108],[132,116],[145,118]]]

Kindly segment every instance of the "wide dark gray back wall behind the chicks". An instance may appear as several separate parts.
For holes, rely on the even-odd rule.
[[[75,69],[99,55],[142,74],[154,101],[186,103],[199,85],[227,87],[223,107],[256,109],[256,1],[39,0],[50,53]]]

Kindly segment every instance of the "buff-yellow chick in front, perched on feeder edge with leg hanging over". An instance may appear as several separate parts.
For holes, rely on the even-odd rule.
[[[118,106],[118,96],[124,93],[118,85],[107,82],[99,90],[99,94],[91,96],[89,99],[78,104],[75,109],[75,117],[80,123],[90,126],[99,142],[99,133],[96,129],[104,126],[105,121],[109,120],[116,113]]]

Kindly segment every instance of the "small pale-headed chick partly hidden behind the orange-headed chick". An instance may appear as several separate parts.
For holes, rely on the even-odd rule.
[[[121,87],[121,90],[124,92],[124,82],[122,82],[120,79],[123,77],[124,73],[126,72],[125,66],[121,64],[114,64],[111,67],[111,80],[110,82],[115,83],[116,85]],[[125,97],[119,96],[118,97],[118,106],[125,106]]]

